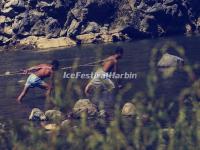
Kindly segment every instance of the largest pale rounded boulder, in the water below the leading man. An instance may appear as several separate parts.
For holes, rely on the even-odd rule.
[[[75,117],[81,117],[82,113],[86,113],[88,117],[96,117],[98,115],[97,106],[89,99],[80,99],[73,107],[73,115]]]

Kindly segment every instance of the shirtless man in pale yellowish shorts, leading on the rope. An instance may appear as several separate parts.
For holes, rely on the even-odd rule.
[[[95,74],[95,76],[86,86],[85,88],[85,94],[89,95],[90,90],[92,87],[98,88],[98,87],[103,87],[103,89],[107,91],[111,91],[112,89],[115,88],[115,84],[113,81],[109,78],[107,78],[107,73],[111,72],[117,72],[117,63],[118,60],[121,59],[123,56],[123,49],[121,47],[118,47],[115,51],[115,53],[101,61],[102,67],[99,68]]]

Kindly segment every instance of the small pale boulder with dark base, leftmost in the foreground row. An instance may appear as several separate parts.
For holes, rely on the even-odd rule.
[[[31,114],[29,116],[29,120],[32,121],[45,121],[47,120],[44,112],[42,112],[39,108],[33,108]]]

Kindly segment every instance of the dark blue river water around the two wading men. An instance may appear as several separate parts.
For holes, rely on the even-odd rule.
[[[137,73],[137,79],[122,81],[124,85],[127,83],[132,85],[131,90],[129,90],[121,100],[121,103],[124,103],[125,101],[131,100],[135,93],[146,90],[145,79],[149,71],[151,50],[153,48],[160,49],[166,43],[176,43],[177,45],[182,46],[186,50],[186,57],[189,60],[189,63],[199,63],[200,36],[180,36],[112,44],[91,44],[48,51],[23,50],[0,52],[0,74],[5,73],[6,71],[18,71],[19,69],[27,68],[40,63],[50,63],[52,59],[60,60],[61,67],[71,66],[75,60],[78,61],[79,64],[85,64],[105,58],[113,52],[113,49],[116,46],[121,46],[124,48],[125,54],[123,59],[120,61],[120,72]],[[92,71],[92,68],[82,67],[79,68],[78,71],[81,71],[82,73],[89,73]],[[73,91],[79,91],[72,94],[73,96],[71,99],[73,102],[79,98],[85,98],[82,91],[87,83],[87,80],[79,79],[78,82],[75,82],[75,85],[71,87],[72,89],[70,89],[69,87],[66,87],[66,84],[69,81],[62,78],[63,71],[59,71],[57,74],[58,82],[60,84],[56,84],[56,86],[57,89],[62,91],[60,97],[64,99],[63,103],[65,103],[62,109],[65,109],[64,106],[68,104],[68,95],[70,95]],[[40,89],[31,89],[28,95],[24,98],[23,103],[17,104],[16,97],[22,90],[24,84],[20,81],[26,80],[26,78],[26,76],[22,75],[0,77],[1,117],[27,120],[33,107],[39,107],[43,110],[45,109],[44,91]],[[177,78],[173,79],[173,85],[168,82],[165,83],[168,88],[159,90],[158,95],[160,91],[166,92],[168,96],[176,93],[177,90],[185,84],[184,77],[182,78],[179,76],[178,79],[179,80],[177,80]],[[62,101],[59,105],[62,106]],[[70,109],[71,106],[72,104],[69,104],[66,106],[66,109]]]

